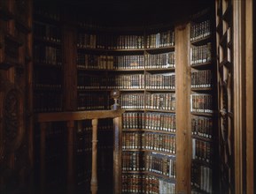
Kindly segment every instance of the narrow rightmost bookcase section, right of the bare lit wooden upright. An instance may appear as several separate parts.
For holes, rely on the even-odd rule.
[[[192,193],[213,193],[217,177],[217,66],[214,12],[199,11],[190,22],[190,113]],[[216,175],[215,175],[216,174]]]

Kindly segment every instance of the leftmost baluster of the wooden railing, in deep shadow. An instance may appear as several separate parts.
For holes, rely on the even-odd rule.
[[[47,123],[40,123],[40,191],[44,194],[45,188],[45,138]]]

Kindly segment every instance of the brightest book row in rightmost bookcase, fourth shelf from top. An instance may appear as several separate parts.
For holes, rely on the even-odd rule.
[[[208,93],[190,94],[190,111],[192,113],[213,113],[213,95]]]

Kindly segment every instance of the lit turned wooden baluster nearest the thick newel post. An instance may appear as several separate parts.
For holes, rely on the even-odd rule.
[[[90,190],[97,194],[97,119],[92,119],[92,164]]]

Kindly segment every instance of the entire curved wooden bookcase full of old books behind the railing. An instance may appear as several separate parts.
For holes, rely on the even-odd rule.
[[[110,109],[110,92],[119,89],[120,107],[125,110],[120,160],[122,192],[190,192],[198,187],[196,191],[211,193],[213,178],[209,174],[215,166],[212,168],[210,164],[213,157],[208,158],[202,150],[210,149],[209,155],[213,154],[216,102],[205,103],[213,105],[204,109],[211,113],[192,109],[194,99],[203,99],[198,93],[204,93],[207,101],[215,99],[213,93],[216,93],[214,32],[209,28],[214,24],[205,17],[207,13],[181,26],[125,29],[91,26],[83,21],[75,23],[75,19],[68,17],[38,13],[35,14],[35,97],[38,95],[45,101],[42,108],[53,102],[44,96],[46,90],[55,96],[53,99],[62,101],[58,101],[58,108],[49,104],[49,109],[39,112]],[[192,31],[201,34],[195,35],[197,40],[191,40]],[[211,57],[202,56],[209,53]],[[36,71],[38,75],[45,71],[50,77],[41,80]],[[209,83],[198,83],[202,77]],[[196,134],[195,122],[205,123],[204,130],[209,131]],[[208,126],[212,123],[213,126]],[[74,126],[74,183],[89,190],[91,146],[86,143],[91,141],[92,128],[87,122],[76,122]],[[66,127],[60,129],[61,134],[65,133]],[[112,123],[108,120],[99,123],[98,132],[98,174],[105,177],[105,173],[112,175]],[[205,178],[208,183],[198,183],[198,179]],[[99,180],[99,185],[104,180]]]

